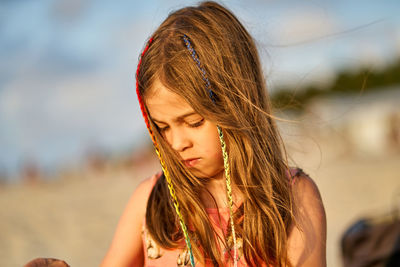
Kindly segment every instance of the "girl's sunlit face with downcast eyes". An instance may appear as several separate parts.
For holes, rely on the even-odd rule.
[[[215,124],[158,80],[146,97],[146,105],[162,136],[194,175],[222,178],[224,163]]]

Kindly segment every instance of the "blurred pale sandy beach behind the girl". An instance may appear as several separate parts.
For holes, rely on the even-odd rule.
[[[400,192],[400,154],[352,155],[344,146],[313,138],[288,143],[293,159],[316,181],[325,204],[328,266],[341,266],[339,240],[346,227],[361,216],[393,207]],[[153,161],[136,168],[85,170],[54,181],[2,185],[0,266],[22,266],[36,257],[98,266],[132,191],[158,169]]]

